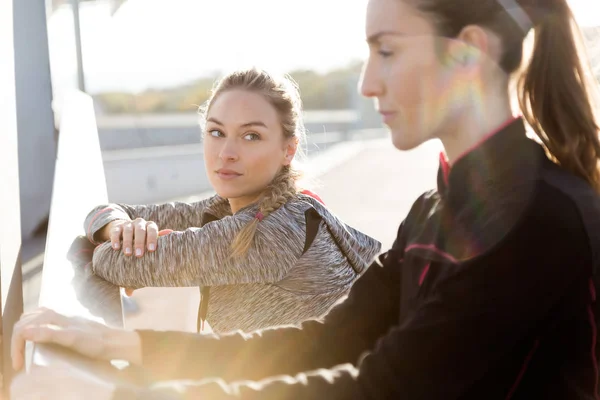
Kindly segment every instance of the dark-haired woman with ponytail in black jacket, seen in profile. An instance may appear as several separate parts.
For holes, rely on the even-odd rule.
[[[113,399],[598,399],[600,142],[576,30],[566,0],[370,0],[362,92],[398,149],[445,152],[437,189],[349,297],[323,320],[224,336],[42,310],[16,328],[16,366],[24,339],[75,337],[160,382],[102,392],[55,372]],[[13,389],[48,393],[47,376]]]

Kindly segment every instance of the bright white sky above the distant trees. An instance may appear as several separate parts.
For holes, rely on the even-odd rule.
[[[582,25],[600,25],[600,0],[570,0]],[[87,89],[139,92],[258,65],[326,71],[364,59],[367,0],[129,0],[113,16],[81,5]],[[55,93],[76,85],[69,6],[48,20]]]

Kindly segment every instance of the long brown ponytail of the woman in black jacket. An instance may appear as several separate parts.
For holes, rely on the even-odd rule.
[[[550,1],[552,11],[534,29],[531,59],[519,80],[519,104],[554,161],[600,192],[599,127],[592,102],[596,82],[589,82],[581,32],[566,0]]]

